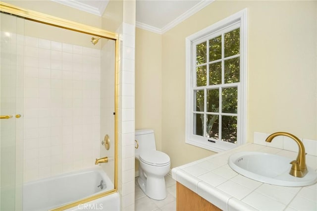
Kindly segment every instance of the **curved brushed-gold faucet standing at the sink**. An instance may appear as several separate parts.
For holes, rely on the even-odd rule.
[[[305,147],[304,144],[301,142],[301,140],[299,140],[296,136],[294,136],[293,134],[290,133],[286,133],[286,132],[276,132],[276,133],[272,133],[271,135],[269,135],[266,138],[266,142],[271,142],[273,138],[275,138],[276,136],[287,136],[291,139],[293,139],[297,145],[298,145],[298,155],[296,160],[293,160],[292,162],[290,162],[290,164],[292,164],[291,170],[289,171],[289,174],[295,177],[304,177],[308,170],[306,167],[306,152],[305,152]]]

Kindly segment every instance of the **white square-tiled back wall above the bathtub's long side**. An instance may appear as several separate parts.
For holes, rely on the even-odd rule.
[[[25,37],[24,182],[94,166],[100,50]]]

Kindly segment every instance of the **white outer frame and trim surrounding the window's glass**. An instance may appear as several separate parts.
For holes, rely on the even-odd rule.
[[[238,87],[238,112],[237,112],[237,144],[225,141],[209,141],[211,138],[194,135],[193,125],[193,90],[195,90],[196,72],[196,45],[208,40],[211,34],[216,35],[218,31],[230,29],[240,25],[240,81],[229,84],[229,87]],[[233,29],[232,28],[232,29]],[[236,27],[237,28],[237,27]],[[215,23],[211,26],[186,38],[186,128],[185,143],[201,147],[214,152],[222,152],[233,149],[241,144],[246,143],[247,134],[247,8]],[[216,37],[216,36],[214,36]],[[194,48],[193,48],[194,47]],[[208,70],[207,70],[208,72]],[[228,85],[228,84],[226,84]],[[202,87],[203,88],[203,87]],[[206,98],[205,98],[206,101]],[[205,102],[206,103],[206,102]],[[206,106],[206,105],[205,105]],[[220,107],[219,107],[220,109]]]

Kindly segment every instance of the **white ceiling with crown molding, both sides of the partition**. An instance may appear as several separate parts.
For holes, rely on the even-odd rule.
[[[53,0],[102,15],[109,0]],[[163,34],[213,0],[136,0],[136,26]]]

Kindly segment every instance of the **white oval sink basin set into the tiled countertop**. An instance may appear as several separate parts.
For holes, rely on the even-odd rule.
[[[317,181],[316,171],[309,166],[308,173],[302,178],[290,175],[292,160],[260,152],[241,152],[231,155],[228,164],[245,177],[272,185],[299,187],[312,185]]]

